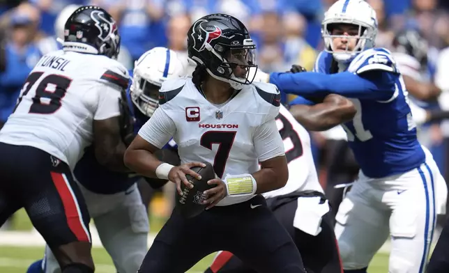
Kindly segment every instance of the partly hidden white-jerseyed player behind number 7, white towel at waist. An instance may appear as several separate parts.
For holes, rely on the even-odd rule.
[[[289,164],[287,185],[266,192],[268,207],[287,229],[303,257],[307,272],[335,273],[342,271],[333,219],[324,190],[319,185],[310,135],[301,120],[314,130],[326,130],[350,120],[356,109],[339,95],[328,95],[323,104],[310,107],[294,106],[287,110],[281,105],[276,118],[277,129],[284,140]],[[255,273],[229,251],[220,251],[205,273]]]

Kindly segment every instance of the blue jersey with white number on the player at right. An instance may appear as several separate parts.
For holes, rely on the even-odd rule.
[[[333,56],[322,52],[315,65],[316,72],[330,73]],[[415,169],[425,162],[425,154],[416,137],[408,92],[395,61],[386,49],[368,49],[356,56],[347,68],[360,77],[371,71],[386,71],[393,77],[374,72],[374,84],[394,81],[395,91],[385,100],[351,98],[357,114],[344,123],[349,146],[366,176],[381,178]],[[379,90],[381,91],[381,90]]]

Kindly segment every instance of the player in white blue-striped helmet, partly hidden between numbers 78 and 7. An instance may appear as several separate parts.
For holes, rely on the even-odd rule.
[[[151,117],[157,102],[158,90],[166,79],[183,77],[185,68],[176,52],[155,47],[135,62],[128,104],[135,118],[135,131]],[[154,100],[153,98],[156,98]],[[132,101],[132,102],[131,102]],[[136,130],[137,129],[137,130]],[[128,177],[98,164],[93,147],[86,148],[75,167],[75,178],[95,222],[98,235],[111,256],[117,272],[135,273],[148,250],[149,220],[146,205],[137,188],[140,177]],[[176,154],[177,157],[177,154]],[[27,273],[58,273],[59,265],[50,249]]]

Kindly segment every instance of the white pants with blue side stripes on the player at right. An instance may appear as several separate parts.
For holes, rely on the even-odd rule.
[[[407,173],[373,179],[360,172],[335,217],[344,270],[367,267],[390,235],[388,272],[425,272],[436,214],[446,205],[446,196],[435,193],[447,193],[425,150],[426,163]]]

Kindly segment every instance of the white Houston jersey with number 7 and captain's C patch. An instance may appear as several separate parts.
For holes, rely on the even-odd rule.
[[[160,107],[139,131],[158,148],[173,136],[181,163],[210,162],[215,173],[254,173],[259,162],[284,155],[275,117],[280,93],[273,84],[246,85],[227,103],[215,105],[201,95],[190,78],[167,80],[160,89]],[[227,197],[218,205],[247,201]]]

